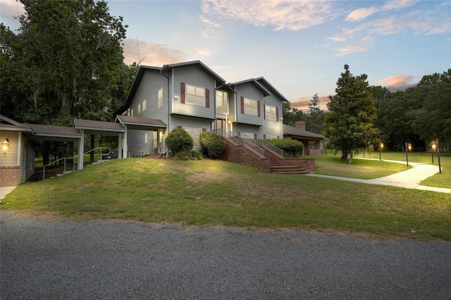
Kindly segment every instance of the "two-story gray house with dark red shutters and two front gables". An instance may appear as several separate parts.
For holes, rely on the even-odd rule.
[[[177,127],[192,135],[199,150],[204,131],[282,139],[283,101],[264,77],[226,83],[201,61],[142,65],[116,122],[128,128],[128,156],[167,154],[164,137]]]

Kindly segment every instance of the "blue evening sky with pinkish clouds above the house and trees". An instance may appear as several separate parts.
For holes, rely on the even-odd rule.
[[[326,108],[344,65],[391,91],[451,68],[451,1],[107,0],[128,25],[124,62],[202,61],[226,82],[265,77],[292,107]],[[2,0],[18,29],[20,1]]]

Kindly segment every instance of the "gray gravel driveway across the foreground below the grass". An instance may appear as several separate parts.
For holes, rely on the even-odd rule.
[[[451,244],[1,211],[1,299],[451,299]]]

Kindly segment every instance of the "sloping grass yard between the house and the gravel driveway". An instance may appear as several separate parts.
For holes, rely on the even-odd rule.
[[[0,208],[76,221],[121,219],[451,241],[450,194],[264,174],[223,161],[116,159],[19,185]]]

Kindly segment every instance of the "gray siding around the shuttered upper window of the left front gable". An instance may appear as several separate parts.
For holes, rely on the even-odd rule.
[[[210,75],[201,70],[197,65],[187,65],[183,68],[176,68],[172,71],[173,75],[173,92],[172,99],[172,113],[179,115],[192,115],[199,118],[215,118],[215,89],[216,81]],[[202,87],[203,89],[209,89],[210,105],[206,106],[180,103],[180,82],[185,82],[186,85],[192,85],[195,87]],[[186,87],[185,87],[186,90]],[[178,99],[175,99],[178,96]]]

